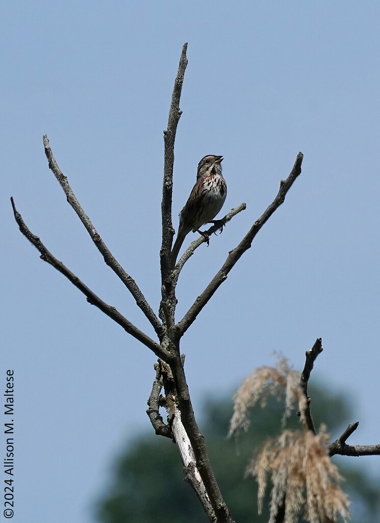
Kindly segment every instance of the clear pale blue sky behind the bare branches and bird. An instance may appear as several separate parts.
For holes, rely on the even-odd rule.
[[[312,378],[354,402],[351,444],[379,442],[379,15],[377,2],[324,0],[1,7],[0,378],[14,369],[15,523],[94,521],[117,452],[150,430],[155,357],[40,260],[9,198],[58,259],[153,336],[66,203],[42,135],[157,311],[162,131],[184,42],[173,223],[210,153],[224,156],[224,210],[247,210],[188,261],[178,319],[304,153],[285,203],[183,339],[195,409],[274,351],[302,369],[322,337]],[[361,463],[376,474],[378,458]]]

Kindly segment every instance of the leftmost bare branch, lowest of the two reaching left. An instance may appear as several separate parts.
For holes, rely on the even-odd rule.
[[[95,305],[98,309],[100,309],[104,314],[109,316],[113,321],[121,325],[124,330],[136,338],[139,342],[146,345],[149,349],[151,349],[157,356],[160,358],[167,357],[167,354],[165,353],[164,349],[160,347],[155,341],[153,341],[149,336],[147,336],[144,332],[140,331],[133,323],[131,323],[129,320],[127,320],[120,312],[118,312],[114,307],[111,305],[108,305],[103,300],[101,300],[94,292],[91,291],[73,272],[71,272],[65,265],[62,263],[62,261],[57,260],[43,245],[40,238],[33,234],[23,221],[21,214],[16,210],[16,206],[14,203],[13,198],[10,199],[13,207],[13,212],[15,215],[15,220],[19,226],[19,229],[21,233],[29,240],[29,242],[34,245],[35,248],[41,253],[40,258],[43,261],[46,261],[48,264],[50,264],[52,267],[57,269],[61,274],[63,274],[70,282],[75,285],[77,289],[79,289],[83,294],[85,294],[87,301],[91,303],[91,305]]]

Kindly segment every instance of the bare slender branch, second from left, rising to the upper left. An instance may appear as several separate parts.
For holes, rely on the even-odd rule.
[[[118,263],[118,261],[114,258],[112,253],[110,252],[110,249],[105,245],[102,238],[100,237],[100,234],[97,232],[97,230],[92,225],[89,217],[85,213],[85,211],[80,206],[80,203],[78,202],[73,189],[70,187],[67,177],[63,174],[62,170],[58,166],[54,156],[53,152],[51,150],[49,139],[46,135],[43,137],[43,145],[45,149],[45,155],[47,158],[47,161],[49,162],[49,168],[51,169],[52,173],[58,180],[59,184],[61,185],[62,189],[65,192],[66,199],[70,206],[74,209],[74,211],[77,213],[80,221],[85,226],[87,232],[91,236],[91,239],[95,246],[97,247],[98,251],[102,254],[104,261],[106,265],[108,265],[115,274],[121,279],[121,281],[124,283],[126,288],[129,290],[129,292],[133,295],[134,299],[136,300],[137,306],[141,309],[142,312],[144,312],[145,316],[149,320],[152,327],[155,329],[157,336],[159,339],[162,339],[163,336],[163,329],[162,324],[156,314],[151,309],[150,305],[146,301],[144,294],[140,291],[137,283],[135,280],[130,277],[127,272],[123,269],[123,267]]]

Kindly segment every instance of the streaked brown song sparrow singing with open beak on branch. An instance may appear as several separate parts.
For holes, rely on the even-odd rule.
[[[198,164],[197,181],[179,214],[180,225],[171,253],[172,267],[175,266],[186,234],[197,231],[207,236],[207,233],[199,231],[199,228],[205,223],[210,223],[223,207],[227,196],[227,184],[222,176],[222,160],[223,156],[208,154]]]

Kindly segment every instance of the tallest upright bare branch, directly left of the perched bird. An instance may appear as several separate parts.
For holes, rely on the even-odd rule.
[[[169,110],[168,128],[164,131],[164,172],[161,203],[162,244],[160,250],[162,285],[165,285],[165,280],[167,280],[170,273],[170,251],[174,235],[172,224],[174,141],[177,125],[182,114],[180,109],[180,99],[187,66],[186,50],[187,43],[185,43],[182,48],[180,64],[174,81],[172,101]]]

